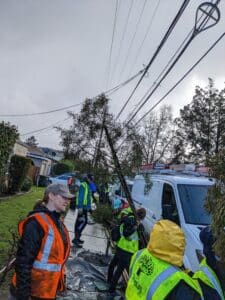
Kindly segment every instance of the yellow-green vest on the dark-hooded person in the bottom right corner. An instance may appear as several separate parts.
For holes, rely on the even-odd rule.
[[[225,300],[224,292],[221,288],[220,282],[216,273],[208,266],[204,258],[200,263],[200,269],[193,275],[194,279],[200,279],[209,287],[215,289],[222,300]]]

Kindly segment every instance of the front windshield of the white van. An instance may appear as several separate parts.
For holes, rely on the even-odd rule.
[[[210,224],[211,217],[204,208],[210,186],[190,184],[178,184],[177,186],[185,221],[196,225]]]

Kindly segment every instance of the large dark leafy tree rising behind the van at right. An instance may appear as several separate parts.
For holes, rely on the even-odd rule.
[[[219,153],[225,147],[225,90],[215,89],[212,79],[206,89],[197,86],[192,102],[180,110],[176,123],[189,160],[202,162]]]

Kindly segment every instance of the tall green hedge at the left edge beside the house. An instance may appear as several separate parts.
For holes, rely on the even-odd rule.
[[[0,193],[4,188],[9,156],[19,136],[16,126],[0,122]]]

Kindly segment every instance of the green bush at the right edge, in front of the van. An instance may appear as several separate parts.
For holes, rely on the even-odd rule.
[[[212,230],[216,237],[215,252],[225,262],[225,150],[211,157],[208,165],[217,182],[208,193],[205,207],[212,215]]]

